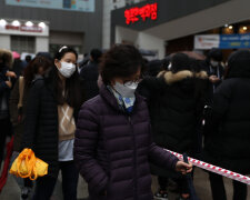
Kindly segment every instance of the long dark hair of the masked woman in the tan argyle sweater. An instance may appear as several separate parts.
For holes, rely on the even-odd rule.
[[[66,53],[73,53],[78,59],[78,53],[74,49],[69,47],[62,47],[54,56],[54,60],[61,60]],[[82,83],[80,81],[80,77],[78,70],[76,69],[74,73],[66,79],[66,88],[64,96],[62,94],[63,86],[62,80],[59,77],[59,71],[57,67],[53,64],[50,73],[49,80],[52,82],[53,93],[58,104],[68,103],[72,108],[79,109],[83,102],[83,90]]]

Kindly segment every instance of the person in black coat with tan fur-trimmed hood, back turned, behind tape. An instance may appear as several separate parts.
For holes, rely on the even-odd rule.
[[[203,89],[198,88],[197,83],[198,80],[208,82],[208,76],[206,71],[194,72],[193,62],[183,53],[176,53],[170,63],[170,71],[161,71],[158,78],[142,80],[138,91],[149,103],[154,142],[176,152],[190,153],[202,111],[202,107],[198,104],[200,106],[199,101],[202,99],[200,90]],[[159,176],[160,184],[154,198],[167,199],[167,177],[170,174],[156,166],[152,166],[152,173]],[[178,178],[181,190],[180,199],[188,198],[187,182],[178,174],[174,178]]]

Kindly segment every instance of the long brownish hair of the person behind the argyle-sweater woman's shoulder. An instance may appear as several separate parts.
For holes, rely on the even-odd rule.
[[[52,67],[51,60],[44,57],[38,56],[33,60],[31,60],[23,72],[26,87],[31,86],[34,76],[39,73],[40,68],[42,68],[42,70],[46,72],[51,67]]]

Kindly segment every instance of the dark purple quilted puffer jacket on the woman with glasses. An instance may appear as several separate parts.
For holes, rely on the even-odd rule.
[[[91,200],[152,200],[149,161],[166,169],[178,161],[151,141],[143,98],[127,114],[106,87],[80,110],[74,160]]]

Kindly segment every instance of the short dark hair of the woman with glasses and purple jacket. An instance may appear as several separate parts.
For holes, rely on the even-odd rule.
[[[102,56],[100,63],[100,74],[106,86],[113,78],[129,78],[139,69],[143,74],[144,60],[139,50],[130,44],[116,44]]]

